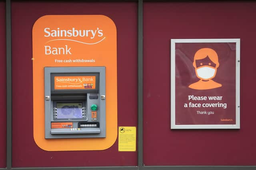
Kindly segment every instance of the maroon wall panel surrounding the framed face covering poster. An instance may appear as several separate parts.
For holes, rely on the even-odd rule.
[[[255,2],[144,2],[146,166],[256,165],[255,11]],[[170,130],[170,39],[201,38],[241,39],[240,130]]]

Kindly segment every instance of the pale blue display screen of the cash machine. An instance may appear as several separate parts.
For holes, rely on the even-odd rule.
[[[57,119],[81,119],[82,103],[57,103]]]

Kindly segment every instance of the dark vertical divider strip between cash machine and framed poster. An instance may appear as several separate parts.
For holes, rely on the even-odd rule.
[[[138,168],[143,166],[143,0],[138,0]]]

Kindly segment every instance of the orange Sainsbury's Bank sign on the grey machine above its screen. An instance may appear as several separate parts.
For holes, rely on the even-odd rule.
[[[54,89],[95,89],[96,76],[56,76]]]

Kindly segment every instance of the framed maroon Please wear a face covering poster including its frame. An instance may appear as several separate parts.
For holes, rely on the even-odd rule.
[[[240,129],[240,39],[171,39],[171,129]]]

